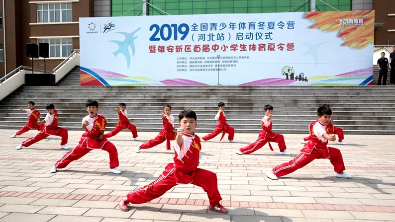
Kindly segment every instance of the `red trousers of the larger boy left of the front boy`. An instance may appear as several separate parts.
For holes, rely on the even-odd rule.
[[[107,141],[101,149],[107,151],[110,155],[110,169],[119,166],[118,151],[111,142]],[[83,157],[91,150],[91,148],[77,145],[73,150],[68,151],[61,159],[59,159],[56,162],[55,167],[59,169],[65,168],[69,163]]]

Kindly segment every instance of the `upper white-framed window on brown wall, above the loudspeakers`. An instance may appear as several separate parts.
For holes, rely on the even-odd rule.
[[[37,4],[37,22],[71,22],[72,7],[72,3]]]

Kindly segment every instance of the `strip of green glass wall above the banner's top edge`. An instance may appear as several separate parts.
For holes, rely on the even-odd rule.
[[[171,15],[215,14],[215,13],[266,13],[285,11],[309,11],[309,0],[148,0],[149,3]],[[341,10],[351,10],[352,0],[322,0]],[[120,16],[140,4],[142,0],[112,0],[112,16]],[[302,3],[303,2],[303,3]],[[316,0],[316,11],[335,11],[331,6]],[[296,6],[298,5],[298,6]],[[295,7],[296,6],[296,7]],[[294,8],[295,7],[295,8]],[[127,12],[124,16],[141,15],[142,5]],[[148,15],[161,15],[164,12],[149,6]]]

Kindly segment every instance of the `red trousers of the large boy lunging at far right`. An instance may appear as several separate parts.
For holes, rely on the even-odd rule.
[[[332,147],[328,147],[328,149],[329,149],[328,159],[330,160],[330,163],[332,163],[332,165],[334,166],[335,172],[336,173],[343,172],[346,169],[346,167],[344,166],[343,157],[341,155],[340,150]],[[303,166],[307,165],[314,159],[324,159],[324,158],[325,158],[324,156],[322,156],[315,148],[313,148],[310,154],[300,152],[293,160],[286,163],[282,163],[274,167],[273,172],[278,177],[284,176],[294,172],[297,169],[302,168]]]

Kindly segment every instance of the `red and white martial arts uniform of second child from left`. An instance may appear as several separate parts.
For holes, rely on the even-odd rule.
[[[45,116],[45,124],[43,127],[41,127],[40,132],[34,136],[31,137],[25,141],[22,142],[23,147],[29,147],[30,145],[39,142],[40,140],[43,140],[50,135],[53,136],[59,136],[62,138],[62,141],[60,142],[60,145],[66,145],[67,140],[69,139],[69,135],[67,133],[66,128],[58,127],[58,111],[54,109],[54,114],[50,115],[47,113]]]

